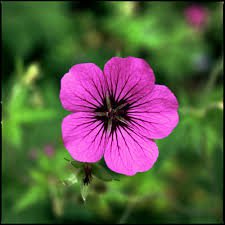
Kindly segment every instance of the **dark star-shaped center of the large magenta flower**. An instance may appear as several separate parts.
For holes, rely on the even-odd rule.
[[[129,122],[129,103],[116,101],[113,96],[106,96],[103,103],[95,110],[96,119],[104,123],[104,130],[113,133],[118,126],[127,126]]]

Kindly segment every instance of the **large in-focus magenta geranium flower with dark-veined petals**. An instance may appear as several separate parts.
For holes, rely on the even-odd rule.
[[[94,163],[104,157],[111,170],[129,176],[154,165],[154,139],[168,136],[179,120],[176,97],[155,84],[140,58],[113,57],[103,72],[93,63],[74,65],[61,79],[60,100],[72,112],[62,122],[72,158]]]

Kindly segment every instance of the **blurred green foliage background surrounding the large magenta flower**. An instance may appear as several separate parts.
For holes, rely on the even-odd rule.
[[[188,2],[2,3],[3,223],[223,222],[223,3],[200,5],[208,17],[196,30]],[[151,64],[180,122],[157,140],[150,171],[104,182],[114,174],[96,169],[81,195],[64,159],[60,78],[115,55]]]

